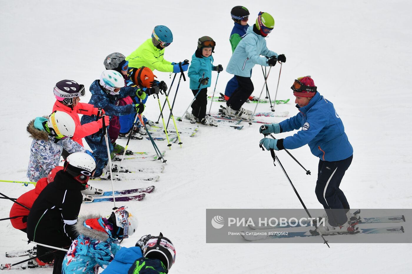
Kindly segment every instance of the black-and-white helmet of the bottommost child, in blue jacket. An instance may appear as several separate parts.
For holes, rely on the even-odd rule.
[[[176,250],[171,240],[163,237],[161,232],[159,236],[152,236],[147,240],[143,256],[150,259],[159,259],[167,269],[170,269],[176,259]]]

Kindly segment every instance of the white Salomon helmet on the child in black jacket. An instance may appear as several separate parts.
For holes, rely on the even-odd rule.
[[[67,156],[63,171],[67,172],[80,183],[87,183],[96,169],[93,157],[85,152],[75,152]]]

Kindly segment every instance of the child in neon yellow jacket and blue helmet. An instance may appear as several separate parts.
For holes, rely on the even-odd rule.
[[[180,67],[186,71],[189,64],[169,62],[164,59],[164,49],[173,42],[173,34],[166,26],[155,26],[152,38],[147,39],[135,51],[126,57],[129,67],[148,67],[150,70],[179,73]],[[184,62],[182,62],[184,63]]]

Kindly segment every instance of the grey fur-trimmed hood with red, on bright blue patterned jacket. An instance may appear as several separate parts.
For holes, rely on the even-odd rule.
[[[93,225],[89,224],[88,226],[86,226],[84,224],[86,220],[93,221]],[[82,234],[84,237],[89,237],[91,239],[96,239],[99,241],[107,241],[111,236],[110,230],[104,224],[101,215],[97,214],[79,216],[79,218],[77,219],[77,223],[75,224],[75,229],[77,232],[79,232],[79,234]]]

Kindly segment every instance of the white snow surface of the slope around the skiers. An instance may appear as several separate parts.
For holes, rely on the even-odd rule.
[[[248,7],[250,24],[260,10],[275,18],[267,46],[287,57],[277,99],[291,98],[288,104],[277,105],[276,111],[297,113],[290,86],[294,79],[304,75],[311,75],[321,95],[334,103],[354,149],[353,162],[341,184],[351,207],[410,208],[412,20],[410,3],[405,0],[0,0],[1,179],[27,181],[31,139],[26,125],[36,116],[51,113],[55,101],[52,88],[57,81],[73,79],[88,87],[104,70],[105,56],[115,51],[129,55],[150,37],[155,25],[166,25],[173,31],[173,43],[165,51],[166,60],[190,60],[197,39],[208,35],[217,44],[213,53],[215,65],[226,67],[232,54],[230,9],[240,4]],[[268,80],[272,98],[279,67],[278,64],[272,68]],[[155,74],[170,86],[168,73]],[[213,72],[209,95],[213,93],[215,77]],[[216,94],[224,93],[231,77],[227,72],[221,73]],[[253,94],[259,96],[263,84],[260,67],[253,69],[252,80]],[[172,95],[176,86],[177,81]],[[88,102],[89,97],[88,93],[82,102]],[[182,80],[176,116],[181,116],[192,98],[189,81]],[[219,105],[213,102],[212,111],[216,112]],[[253,110],[255,104],[243,107]],[[258,111],[270,111],[269,104],[260,104]],[[157,100],[148,100],[144,114],[157,120]],[[276,117],[258,119],[282,121]],[[141,202],[127,203],[138,216],[139,227],[122,246],[134,246],[142,235],[163,232],[177,251],[170,273],[345,273],[359,268],[365,273],[408,272],[411,244],[330,242],[330,249],[321,241],[206,244],[208,208],[301,208],[280,167],[274,167],[270,153],[259,148],[259,124],[243,125],[240,131],[201,126],[194,137],[182,136],[183,148],[173,144],[169,150],[166,142],[157,142],[161,150],[167,150],[167,165],[159,174],[160,180],[153,183],[153,193]],[[119,143],[125,145],[126,140]],[[129,148],[153,151],[148,140],[133,140]],[[278,155],[283,166],[307,207],[321,208],[314,193],[318,159],[308,146],[291,152],[312,175],[307,176],[281,151]],[[124,165],[133,168],[161,163],[127,160]],[[92,185],[111,189],[110,182]],[[150,185],[140,181],[115,182],[116,189]],[[33,186],[0,182],[0,188],[9,197],[19,197]],[[0,200],[1,218],[9,216],[11,206],[10,201]],[[81,214],[108,215],[112,207],[112,203],[83,204]],[[408,223],[404,226],[412,229]],[[26,248],[22,241],[26,236],[12,228],[9,221],[0,223],[0,235],[1,263],[18,262],[20,258],[6,259],[5,252]],[[24,272],[52,273],[52,269]]]

